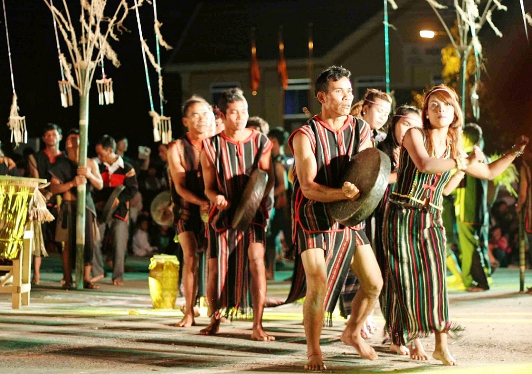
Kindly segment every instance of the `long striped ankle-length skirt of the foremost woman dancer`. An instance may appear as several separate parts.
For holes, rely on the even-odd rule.
[[[393,344],[435,331],[459,331],[448,316],[445,229],[439,212],[388,203],[383,238],[388,262],[388,328]]]

